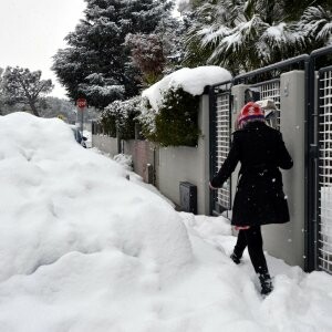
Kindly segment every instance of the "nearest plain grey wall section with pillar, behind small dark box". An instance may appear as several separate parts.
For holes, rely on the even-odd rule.
[[[201,137],[197,147],[159,148],[157,160],[158,188],[179,205],[179,183],[197,186],[197,212],[209,214],[209,106],[208,95],[200,98],[198,124]]]

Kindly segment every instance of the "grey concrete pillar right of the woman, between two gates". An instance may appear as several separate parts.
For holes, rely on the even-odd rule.
[[[291,221],[262,227],[264,248],[289,264],[304,267],[304,72],[281,75],[280,131],[293,167],[282,170]]]

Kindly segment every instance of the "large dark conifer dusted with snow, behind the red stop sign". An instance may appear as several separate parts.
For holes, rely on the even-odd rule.
[[[71,98],[103,108],[138,92],[139,72],[124,45],[128,33],[148,34],[169,12],[167,0],[85,0],[85,18],[54,55],[53,70]],[[169,14],[169,13],[168,13]]]

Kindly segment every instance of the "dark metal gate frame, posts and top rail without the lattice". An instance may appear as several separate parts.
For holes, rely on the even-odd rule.
[[[293,70],[303,70],[305,76],[304,98],[305,98],[305,127],[304,127],[304,271],[317,270],[318,261],[318,220],[319,220],[319,193],[318,193],[318,144],[317,144],[317,123],[318,112],[315,112],[315,60],[322,55],[332,53],[332,46],[323,48],[313,51],[310,55],[302,54],[294,56],[261,69],[253,70],[248,73],[237,75],[231,81],[215,84],[209,89],[210,100],[210,174],[215,173],[216,167],[216,92],[215,87],[231,83],[231,86],[239,84],[257,85],[263,82],[269,82],[280,79],[284,72]],[[230,101],[232,98],[230,97]],[[232,102],[230,105],[230,114],[232,112]],[[231,117],[230,117],[231,129]],[[216,195],[211,193],[210,211],[214,210]]]

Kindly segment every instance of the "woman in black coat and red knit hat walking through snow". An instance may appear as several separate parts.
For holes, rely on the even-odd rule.
[[[235,195],[231,225],[239,229],[231,259],[239,263],[248,246],[249,256],[261,282],[261,293],[272,290],[271,278],[262,250],[261,225],[289,221],[287,197],[282,190],[280,168],[289,169],[293,162],[281,133],[264,123],[264,115],[256,103],[248,103],[240,112],[230,152],[210,188],[222,186],[241,163]]]

